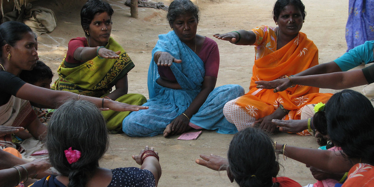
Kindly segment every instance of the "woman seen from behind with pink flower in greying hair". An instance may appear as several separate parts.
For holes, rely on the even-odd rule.
[[[132,156],[141,168],[100,168],[99,159],[108,144],[105,119],[95,104],[84,100],[65,102],[50,119],[45,143],[49,161],[60,175],[49,175],[31,186],[157,186],[161,167],[153,147],[146,146],[139,155]]]

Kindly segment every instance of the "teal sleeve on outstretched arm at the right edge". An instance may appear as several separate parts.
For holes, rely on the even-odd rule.
[[[340,67],[341,71],[348,71],[362,63],[367,64],[373,61],[373,50],[374,40],[366,41],[364,44],[344,53],[344,55],[335,59],[334,62]]]

